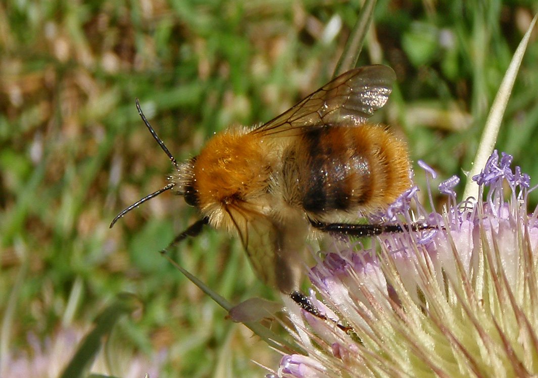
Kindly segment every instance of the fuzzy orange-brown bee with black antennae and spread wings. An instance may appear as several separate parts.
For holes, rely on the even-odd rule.
[[[402,231],[397,225],[353,223],[361,214],[387,208],[411,186],[406,144],[368,121],[387,102],[395,79],[383,65],[351,69],[265,124],[218,132],[181,164],[137,100],[142,120],[175,170],[168,185],[124,209],[110,227],[141,203],[173,190],[201,219],[171,245],[207,224],[224,229],[239,237],[266,284],[293,297],[309,237]]]

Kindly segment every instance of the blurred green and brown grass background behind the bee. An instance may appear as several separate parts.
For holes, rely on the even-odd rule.
[[[181,198],[162,194],[108,228],[171,172],[134,98],[175,157],[192,157],[213,132],[270,120],[327,82],[359,8],[358,1],[316,0],[0,3],[5,376],[58,374],[119,292],[134,293],[141,310],[119,321],[109,366],[94,372],[263,376],[251,359],[277,366],[276,352],[226,320],[157,253],[196,220]],[[376,120],[407,139],[414,162],[425,160],[440,180],[470,168],[536,11],[531,0],[378,2],[359,65],[388,64],[398,82]],[[536,35],[498,142],[532,178]],[[207,230],[174,256],[232,303],[275,297],[240,243],[223,233]]]

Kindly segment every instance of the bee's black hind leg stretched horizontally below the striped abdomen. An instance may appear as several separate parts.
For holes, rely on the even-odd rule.
[[[412,223],[412,225],[361,225],[352,223],[324,223],[315,219],[309,219],[309,221],[312,227],[323,232],[357,237],[376,236],[380,234],[400,233],[406,231],[421,231],[437,228],[437,226],[430,226],[426,223]]]

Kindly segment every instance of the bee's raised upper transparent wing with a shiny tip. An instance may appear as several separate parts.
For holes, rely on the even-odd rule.
[[[360,125],[385,105],[395,80],[396,74],[387,66],[352,69],[252,132],[289,134],[305,127]]]

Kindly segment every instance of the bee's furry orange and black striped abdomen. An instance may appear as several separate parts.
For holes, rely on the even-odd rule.
[[[372,211],[410,186],[404,142],[374,124],[305,132],[284,153],[284,199],[322,218]]]

